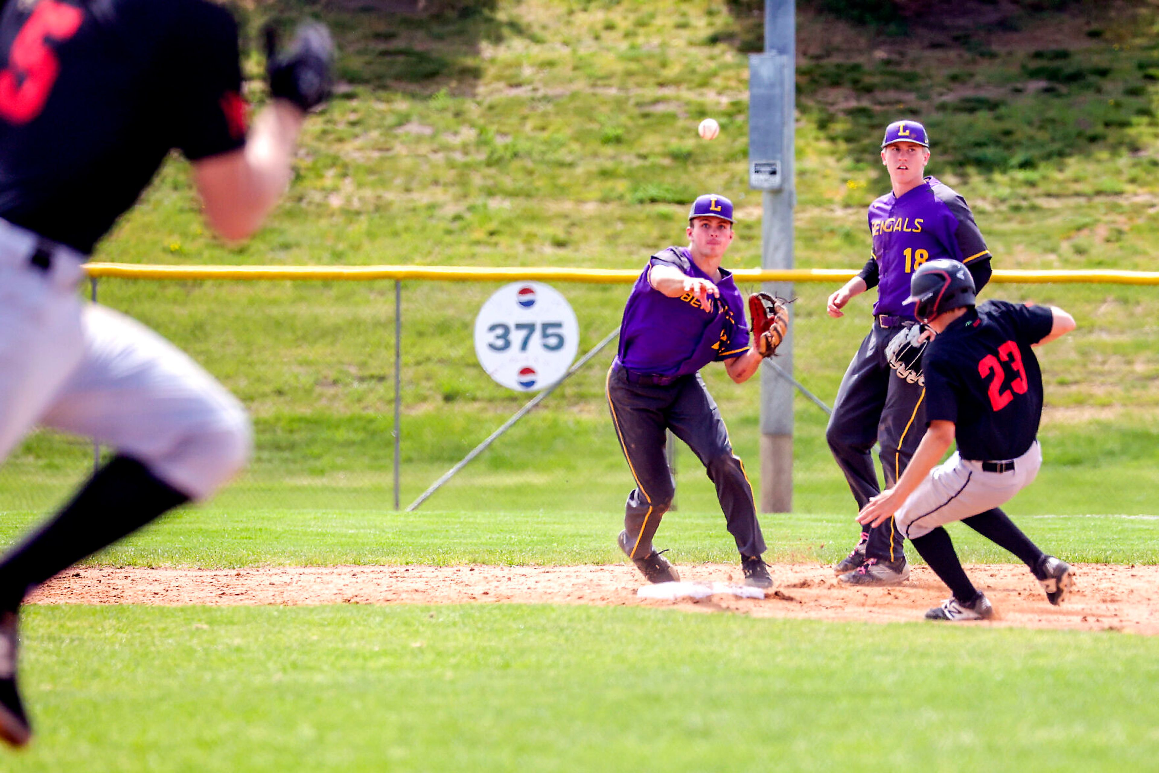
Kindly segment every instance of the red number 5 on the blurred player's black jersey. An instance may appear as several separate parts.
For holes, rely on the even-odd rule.
[[[27,124],[41,115],[60,74],[60,61],[48,39],[67,41],[82,17],[80,8],[57,0],[37,3],[12,43],[8,66],[0,70],[0,116]]]

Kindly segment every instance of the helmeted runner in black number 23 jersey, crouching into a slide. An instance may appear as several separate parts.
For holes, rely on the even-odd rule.
[[[891,517],[953,596],[926,613],[931,620],[982,620],[993,607],[965,576],[943,524],[961,520],[1029,567],[1047,599],[1060,603],[1071,568],[1045,555],[1001,511],[1042,465],[1036,436],[1042,372],[1032,347],[1074,329],[1054,306],[991,300],[975,307],[974,279],[956,261],[930,261],[912,279],[914,313],[938,334],[926,347],[928,429],[897,483],[874,497],[858,522]],[[957,442],[957,451],[939,460]],[[896,513],[896,515],[895,515]]]

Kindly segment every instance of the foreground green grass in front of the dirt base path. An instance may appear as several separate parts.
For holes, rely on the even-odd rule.
[[[549,606],[37,608],[19,771],[1146,770],[1154,639]],[[0,752],[2,753],[2,752]]]

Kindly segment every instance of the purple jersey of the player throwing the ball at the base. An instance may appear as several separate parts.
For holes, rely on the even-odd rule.
[[[624,367],[653,375],[687,375],[749,349],[744,299],[729,271],[720,270],[720,298],[709,298],[705,308],[691,293],[669,298],[653,287],[648,275],[654,265],[671,265],[690,277],[710,280],[687,247],[669,247],[653,255],[624,308],[617,357]]]

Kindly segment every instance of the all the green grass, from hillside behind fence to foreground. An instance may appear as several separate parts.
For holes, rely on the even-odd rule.
[[[336,99],[312,117],[269,227],[213,240],[173,159],[96,258],[133,263],[642,267],[715,190],[739,219],[726,268],[760,261],[748,190],[752,0],[374,0],[233,3],[320,16]],[[911,3],[912,5],[912,3]],[[884,191],[882,126],[918,116],[928,172],[977,216],[996,268],[1157,270],[1159,13],[1153,5],[978,6],[964,31],[901,5],[799,3],[796,264],[857,268]],[[996,12],[997,9],[997,12]],[[994,13],[998,13],[994,16]],[[990,21],[985,21],[990,20]],[[260,103],[261,57],[245,53]],[[695,137],[702,117],[722,126]],[[831,402],[869,304],[824,314],[799,285],[796,375]],[[527,398],[476,366],[486,283],[403,284],[404,506]],[[561,284],[581,350],[627,287]],[[752,287],[745,287],[752,290]],[[249,469],[93,562],[242,568],[618,562],[630,488],[603,401],[611,352],[422,510],[392,511],[394,293],[388,283],[102,280],[255,417]],[[1042,352],[1045,465],[1008,510],[1077,561],[1159,563],[1159,296],[1110,285],[992,285],[1079,329]],[[757,468],[755,384],[707,369]],[[824,416],[796,402],[795,512],[764,518],[778,561],[852,542]],[[0,471],[0,544],[90,468],[36,433]],[[734,559],[684,450],[678,562]],[[967,561],[1008,561],[969,530]],[[1159,758],[1159,639],[1115,632],[868,626],[640,607],[35,606],[22,678],[38,736],[0,771],[1149,770]]]

